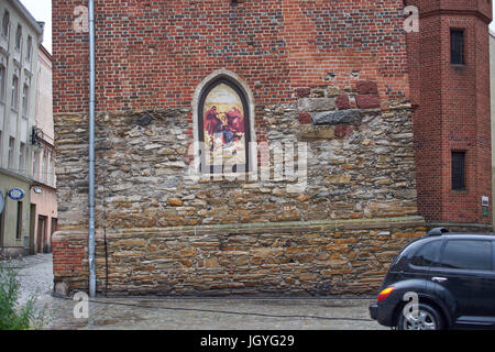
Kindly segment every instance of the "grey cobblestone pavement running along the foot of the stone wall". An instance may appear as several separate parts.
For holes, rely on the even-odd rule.
[[[88,319],[76,319],[76,301],[51,296],[52,256],[12,261],[19,270],[21,299],[36,295],[47,308],[46,329],[81,330],[381,330],[370,319],[371,298],[107,298],[89,302]]]

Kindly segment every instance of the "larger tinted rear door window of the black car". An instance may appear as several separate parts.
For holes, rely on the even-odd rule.
[[[440,260],[440,266],[459,270],[492,271],[492,241],[448,241]]]

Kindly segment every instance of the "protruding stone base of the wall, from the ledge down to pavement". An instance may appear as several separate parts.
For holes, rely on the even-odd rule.
[[[53,238],[55,284],[87,290],[87,230]],[[376,294],[421,217],[130,229],[97,234],[97,290],[157,296]],[[108,274],[108,282],[107,282]]]

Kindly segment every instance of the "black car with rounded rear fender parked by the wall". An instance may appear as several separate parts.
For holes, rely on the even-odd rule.
[[[495,235],[443,228],[394,260],[370,315],[400,330],[495,327]]]

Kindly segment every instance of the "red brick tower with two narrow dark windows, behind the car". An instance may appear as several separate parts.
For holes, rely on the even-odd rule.
[[[408,34],[419,212],[430,226],[490,230],[491,0],[405,2],[419,9]]]

